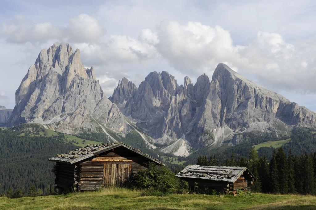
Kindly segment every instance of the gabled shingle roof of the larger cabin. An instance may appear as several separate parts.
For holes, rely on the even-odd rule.
[[[113,148],[116,147],[125,147],[129,150],[132,150],[135,153],[138,153],[160,165],[165,165],[164,163],[162,163],[161,161],[159,161],[156,158],[153,158],[151,156],[149,156],[148,154],[145,154],[143,152],[141,152],[140,150],[136,150],[122,142],[118,142],[118,143],[109,143],[109,144],[88,144],[86,147],[82,147],[73,151],[70,151],[68,153],[64,153],[64,154],[57,154],[56,157],[53,158],[49,158],[49,161],[55,161],[55,162],[64,162],[64,163],[76,163],[79,162],[81,160],[93,157],[97,154],[106,152],[108,150],[111,150]]]

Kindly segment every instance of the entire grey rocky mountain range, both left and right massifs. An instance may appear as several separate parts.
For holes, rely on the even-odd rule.
[[[85,68],[80,57],[80,50],[73,52],[67,43],[42,50],[16,91],[7,125],[40,123],[68,134],[102,132],[109,141],[135,131],[149,147],[178,156],[239,144],[250,132],[284,136],[295,126],[316,127],[316,113],[223,63],[211,80],[202,74],[195,84],[185,76],[179,85],[167,71],[150,72],[138,87],[122,78],[107,98],[93,66]]]

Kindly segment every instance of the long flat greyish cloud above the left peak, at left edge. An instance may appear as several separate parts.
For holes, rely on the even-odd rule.
[[[66,27],[54,26],[50,22],[34,23],[18,15],[2,24],[1,34],[8,42],[17,44],[45,43],[49,40],[91,43],[98,42],[105,30],[87,14],[70,19]]]

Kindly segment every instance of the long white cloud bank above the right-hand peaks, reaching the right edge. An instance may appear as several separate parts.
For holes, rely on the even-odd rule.
[[[278,33],[259,31],[248,45],[234,45],[228,30],[199,22],[163,21],[157,28],[158,52],[186,75],[210,73],[226,63],[274,90],[316,93],[316,47],[295,46]]]

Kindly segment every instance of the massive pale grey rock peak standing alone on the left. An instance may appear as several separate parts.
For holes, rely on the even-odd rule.
[[[85,68],[80,51],[55,43],[42,50],[15,93],[8,125],[41,123],[65,133],[79,129],[129,129],[116,104],[104,95],[94,68]]]

